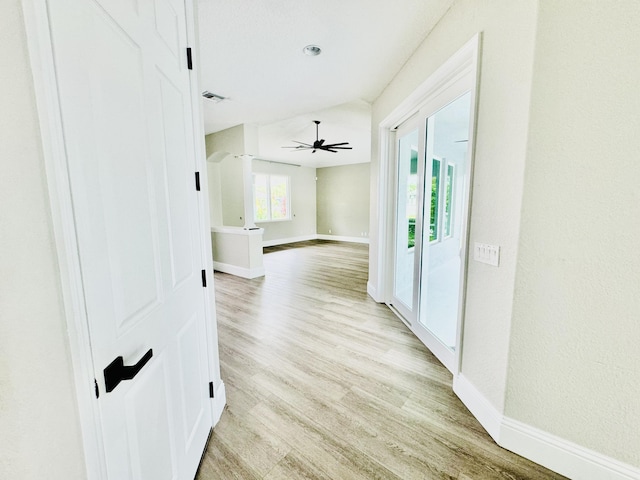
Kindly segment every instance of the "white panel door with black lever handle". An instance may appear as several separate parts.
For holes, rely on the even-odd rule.
[[[48,7],[108,477],[191,479],[212,419],[185,5]]]

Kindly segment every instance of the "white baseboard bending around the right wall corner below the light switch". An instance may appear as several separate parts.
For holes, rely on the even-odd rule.
[[[640,480],[640,469],[502,415],[464,375],[453,391],[498,445],[566,477]]]

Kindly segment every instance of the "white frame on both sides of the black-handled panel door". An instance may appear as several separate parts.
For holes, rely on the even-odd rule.
[[[187,39],[197,58],[194,0],[183,0],[187,15]],[[22,2],[28,53],[33,74],[36,108],[42,153],[47,177],[49,205],[53,224],[55,252],[60,270],[64,317],[68,332],[70,361],[73,366],[75,397],[82,435],[87,478],[106,480],[107,469],[102,442],[100,409],[96,402],[94,379],[97,370],[91,353],[89,324],[84,307],[84,290],[80,270],[80,256],[71,201],[58,83],[56,79],[47,0]],[[185,60],[186,61],[186,60]],[[197,63],[196,63],[197,64]],[[198,171],[206,178],[206,155],[197,72],[190,72],[191,106],[196,161]],[[200,141],[198,141],[200,139]],[[226,404],[224,383],[220,378],[217,326],[213,287],[213,259],[211,253],[210,220],[207,182],[201,182],[198,224],[200,248],[211,281],[205,289],[205,325],[207,333],[208,375],[214,382],[215,394],[210,403],[213,425],[217,423]],[[100,392],[103,395],[105,392]]]

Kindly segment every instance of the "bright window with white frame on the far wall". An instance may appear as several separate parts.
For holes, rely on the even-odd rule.
[[[253,174],[255,222],[291,219],[290,181],[286,175]]]

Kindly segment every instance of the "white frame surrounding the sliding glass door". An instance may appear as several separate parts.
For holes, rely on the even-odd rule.
[[[381,299],[389,303],[392,296],[392,275],[393,272],[393,246],[394,232],[390,228],[393,225],[393,208],[390,206],[394,193],[394,175],[391,174],[395,162],[395,128],[411,118],[420,110],[428,107],[435,109],[444,107],[448,102],[448,91],[455,88],[456,84],[470,78],[469,88],[471,91],[471,112],[469,126],[469,150],[470,159],[467,167],[469,178],[469,198],[465,202],[463,216],[463,232],[461,232],[462,252],[461,259],[461,283],[460,296],[458,300],[458,329],[456,339],[456,354],[454,365],[447,366],[454,376],[460,372],[463,350],[463,326],[464,326],[464,306],[466,295],[467,262],[469,252],[469,222],[471,213],[471,196],[473,188],[473,155],[475,150],[476,131],[476,110],[481,34],[477,33],[467,43],[465,43],[456,53],[454,53],[442,66],[432,73],[413,93],[406,97],[378,126],[379,141],[379,164],[378,164],[378,192],[377,204],[380,212],[380,228],[377,232],[377,256],[378,277],[372,283],[370,290],[376,293],[374,298]],[[455,97],[454,97],[455,98]],[[391,279],[391,280],[390,280]],[[412,330],[413,328],[410,327]]]

